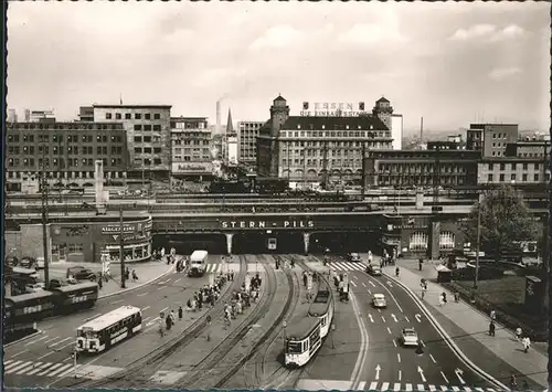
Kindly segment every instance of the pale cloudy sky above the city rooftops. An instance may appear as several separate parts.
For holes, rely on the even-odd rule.
[[[8,106],[172,104],[215,120],[384,95],[405,128],[550,123],[548,3],[10,2]]]

